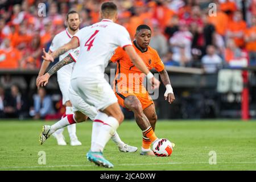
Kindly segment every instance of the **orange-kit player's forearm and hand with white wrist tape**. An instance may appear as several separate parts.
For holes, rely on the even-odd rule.
[[[171,104],[172,102],[174,102],[175,96],[174,96],[174,92],[172,90],[170,78],[165,69],[163,71],[159,72],[159,74],[163,81],[163,84],[166,86],[166,92],[164,93],[164,100],[167,100]]]

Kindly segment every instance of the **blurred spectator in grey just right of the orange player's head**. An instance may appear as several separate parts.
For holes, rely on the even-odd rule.
[[[168,42],[157,26],[154,27],[152,32],[150,46],[156,49],[160,57],[163,57],[168,51]]]

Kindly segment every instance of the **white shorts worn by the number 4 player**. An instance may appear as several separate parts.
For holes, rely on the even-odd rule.
[[[105,78],[73,78],[71,86],[87,104],[95,106],[97,110],[104,110],[117,102],[117,97]]]

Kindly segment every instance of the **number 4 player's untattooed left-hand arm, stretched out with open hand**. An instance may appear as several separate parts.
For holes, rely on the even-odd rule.
[[[43,59],[46,61],[54,61],[56,57],[59,57],[60,55],[63,55],[63,53],[75,49],[79,47],[79,40],[76,37],[73,37],[71,41],[69,41],[67,44],[64,44],[64,46],[61,46],[59,49],[56,51],[53,51],[51,54],[47,53],[43,49]]]

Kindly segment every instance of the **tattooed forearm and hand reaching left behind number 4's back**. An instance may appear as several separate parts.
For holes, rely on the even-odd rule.
[[[63,60],[61,60],[58,63],[56,63],[55,65],[53,65],[52,68],[49,69],[49,71],[46,74],[44,74],[43,76],[40,76],[38,78],[38,85],[39,86],[46,86],[46,84],[48,83],[49,78],[54,73],[59,71],[59,69],[64,67],[65,65],[73,63],[73,62],[75,62],[75,60],[73,60],[71,55],[66,56]]]

